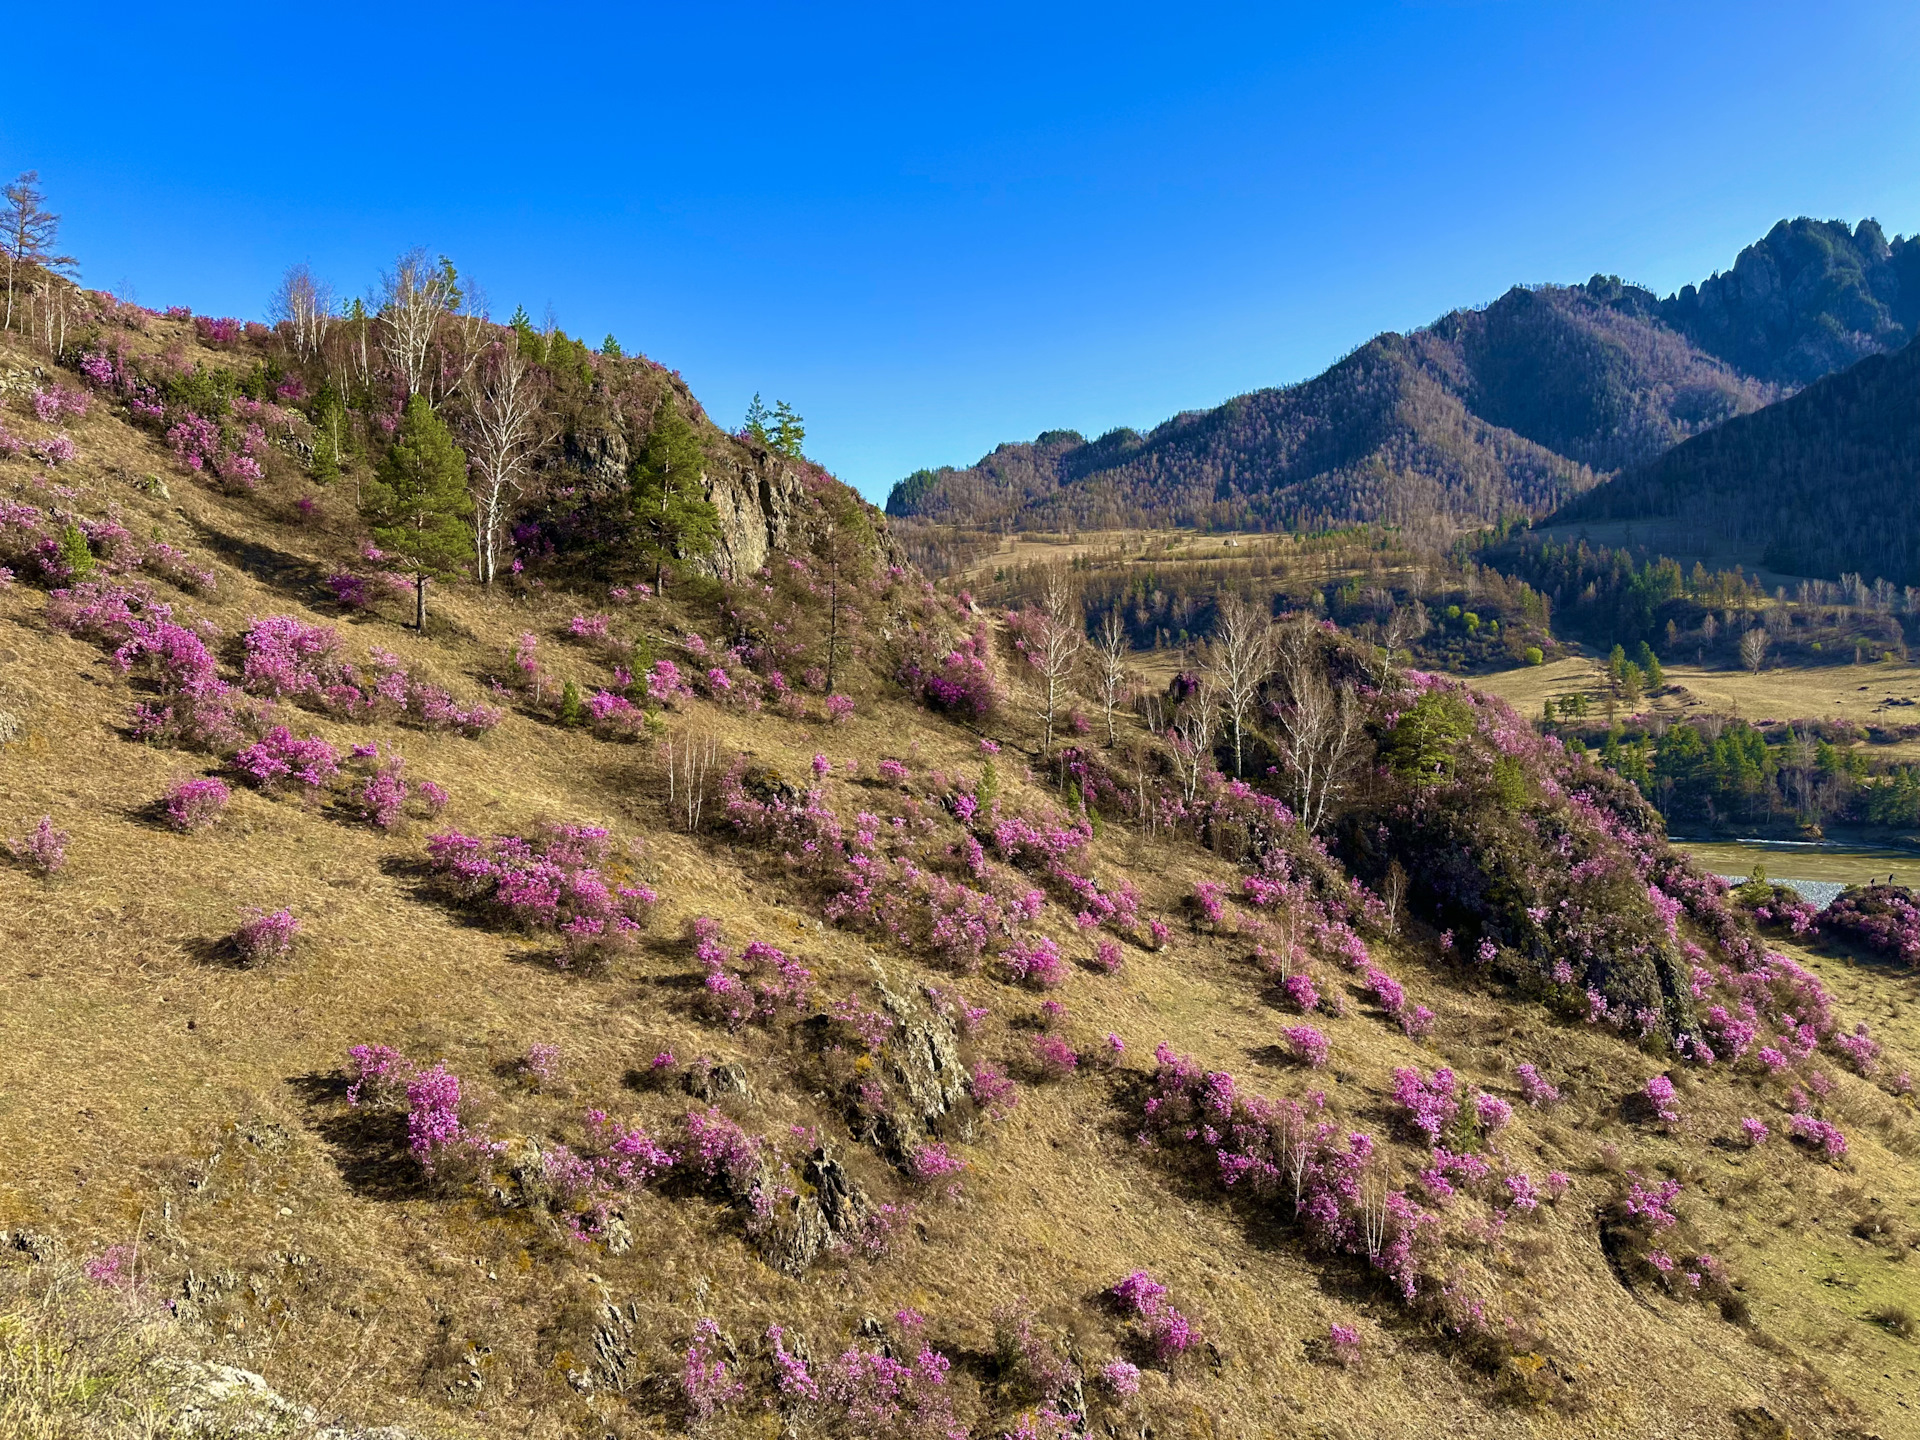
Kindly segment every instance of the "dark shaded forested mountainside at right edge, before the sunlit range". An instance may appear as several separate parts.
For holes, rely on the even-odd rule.
[[[1551,524],[1680,520],[1789,574],[1920,584],[1920,342],[1588,492]]]

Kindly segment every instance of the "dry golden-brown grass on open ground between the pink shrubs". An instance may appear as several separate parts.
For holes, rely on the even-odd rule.
[[[98,434],[77,428],[81,478],[138,524],[219,559],[221,589],[198,611],[228,632],[255,612],[307,614],[311,589],[288,576],[324,572],[348,553],[344,495],[323,497],[321,522],[292,524],[292,482],[227,501],[167,470],[144,438],[104,417],[86,424]],[[169,474],[175,503],[140,495],[108,465]],[[15,465],[0,484],[23,474]],[[386,645],[470,695],[515,634],[549,637],[586,603],[463,591],[440,607],[444,622],[424,639],[386,618],[344,630],[355,649]],[[1129,1423],[1150,1417],[1162,1436],[1415,1436],[1438,1427],[1457,1436],[1732,1436],[1736,1409],[1761,1404],[1791,1417],[1795,1434],[1834,1432],[1857,1407],[1862,1428],[1891,1436],[1905,1415],[1899,1398],[1920,1388],[1912,1346],[1866,1319],[1876,1304],[1899,1302],[1899,1281],[1914,1269],[1895,1265],[1885,1244],[1853,1238],[1855,1212],[1832,1198],[1841,1183],[1864,1187],[1920,1235],[1912,1158],[1901,1152],[1910,1106],[1841,1081],[1862,1116],[1887,1112],[1885,1131],[1872,1121],[1853,1131],[1845,1173],[1786,1144],[1757,1154],[1715,1146],[1759,1104],[1745,1081],[1703,1079],[1686,1096],[1684,1133],[1653,1135],[1619,1119],[1620,1096],[1655,1071],[1653,1058],[1515,1010],[1438,968],[1417,939],[1386,948],[1411,996],[1440,1012],[1434,1035],[1409,1041],[1354,1002],[1325,1023],[1332,1075],[1317,1083],[1336,1114],[1375,1131],[1384,1129],[1396,1064],[1452,1064],[1511,1094],[1513,1064],[1532,1060],[1563,1085],[1567,1104],[1551,1116],[1523,1110],[1503,1148],[1536,1175],[1574,1171],[1578,1188],[1524,1227],[1498,1309],[1530,1317],[1553,1365],[1574,1377],[1582,1400],[1571,1409],[1526,1402],[1534,1361],[1507,1379],[1475,1371],[1350,1271],[1140,1154],[1125,1091],[1156,1041],[1269,1094],[1313,1083],[1271,1060],[1288,1021],[1231,935],[1181,931],[1165,952],[1129,948],[1114,979],[1077,975],[1062,996],[1071,1033],[1119,1033],[1129,1044],[1121,1071],[1025,1087],[1012,1119],[968,1148],[964,1202],[924,1206],[924,1231],[881,1263],[781,1277],[749,1252],[733,1217],[701,1200],[643,1196],[630,1208],[639,1244],[609,1256],[524,1212],[424,1194],[403,1167],[372,1165],[363,1139],[342,1125],[332,1077],[355,1043],[444,1058],[484,1092],[499,1133],[545,1131],[586,1104],[664,1127],[684,1096],[634,1091],[624,1077],[672,1048],[747,1066],[756,1098],[737,1112],[749,1127],[816,1123],[833,1135],[820,1100],[789,1083],[781,1041],[695,1018],[687,981],[697,968],[668,937],[689,916],[718,916],[737,941],[768,937],[797,950],[828,995],[864,985],[874,964],[902,979],[945,977],[818,927],[808,897],[764,856],[668,829],[643,747],[603,745],[518,712],[478,743],[315,716],[301,726],[336,743],[378,732],[411,774],[447,785],[445,824],[463,829],[524,829],[559,816],[641,837],[664,897],[660,939],[605,973],[557,973],[526,939],[424,897],[419,829],[384,837],[240,793],[213,833],[167,833],[142,808],[204,760],[121,739],[125,684],[90,647],[48,634],[40,611],[25,588],[0,591],[0,662],[15,697],[0,705],[27,722],[25,737],[0,751],[0,828],[54,814],[73,831],[73,862],[54,885],[0,872],[0,1227],[60,1231],[83,1250],[138,1236],[152,1283],[190,1300],[196,1344],[261,1369],[288,1394],[336,1398],[348,1413],[424,1430],[672,1434],[682,1423],[664,1377],[697,1315],[720,1317],[743,1348],[778,1321],[820,1352],[845,1344],[862,1315],[912,1306],[960,1357],[954,1384],[972,1405],[985,1402],[979,1356],[991,1350],[995,1308],[1029,1296],[1096,1317],[1091,1298],[1135,1267],[1173,1288],[1217,1354],[1217,1365],[1198,1359],[1171,1379],[1148,1377]],[[601,674],[578,651],[547,649],[580,680]],[[789,774],[816,751],[868,764],[897,755],[916,774],[977,766],[972,733],[877,695],[862,697],[841,728],[749,722],[707,705],[674,724]],[[1031,735],[1018,722],[998,733],[1010,745],[1000,764],[1008,801],[1041,803],[1014,753]],[[851,810],[862,797],[841,787],[833,799]],[[1175,910],[1198,877],[1231,874],[1190,845],[1125,833],[1098,841],[1096,862],[1131,876],[1150,912]],[[205,943],[246,904],[288,904],[305,918],[294,960],[257,972],[209,960]],[[1880,1018],[1905,981],[1812,964],[1834,973],[1845,1014],[1872,1018],[1895,1046],[1920,1054],[1910,1020]],[[1006,1021],[1031,1014],[1035,996],[987,979],[964,989],[995,1008],[983,1054],[1018,1056],[1023,1033]],[[1908,1002],[1905,1014],[1920,1012]],[[563,1046],[570,1096],[530,1094],[499,1073],[532,1041]],[[1738,1196],[1724,1212],[1699,1200],[1711,1212],[1701,1223],[1747,1286],[1770,1348],[1705,1308],[1632,1294],[1613,1279],[1594,1223],[1609,1185],[1590,1165],[1601,1144],[1619,1148],[1615,1164],[1695,1167],[1695,1188]],[[841,1150],[876,1192],[897,1188],[877,1160]],[[1402,1171],[1417,1160],[1407,1144],[1390,1152]],[[1782,1231],[1772,1219],[1788,1183],[1803,1219]],[[1859,1288],[1824,1284],[1828,1273]],[[580,1394],[566,1379],[588,1365],[607,1304],[634,1306],[628,1342],[637,1371],[653,1377],[624,1398]],[[1365,1367],[1315,1361],[1309,1342],[1331,1321],[1361,1327]],[[1096,1338],[1100,1325],[1089,1321]],[[1828,1344],[1836,1329],[1849,1336],[1843,1352]],[[1826,1392],[1809,1357],[1818,1357]],[[743,1413],[714,1432],[772,1428]],[[979,1432],[998,1428],[983,1423]]]

